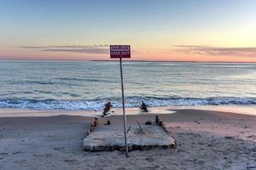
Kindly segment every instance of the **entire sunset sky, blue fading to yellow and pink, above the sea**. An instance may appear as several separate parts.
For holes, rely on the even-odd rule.
[[[255,0],[1,0],[0,59],[256,62]]]

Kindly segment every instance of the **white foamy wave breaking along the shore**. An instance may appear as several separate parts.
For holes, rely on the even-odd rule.
[[[121,99],[92,100],[55,100],[55,99],[0,99],[0,108],[36,109],[36,110],[102,110],[109,100],[113,107],[121,108]],[[126,107],[138,107],[142,100],[150,107],[154,106],[195,106],[195,105],[256,105],[256,98],[214,97],[214,98],[180,98],[180,97],[142,97],[125,98]]]

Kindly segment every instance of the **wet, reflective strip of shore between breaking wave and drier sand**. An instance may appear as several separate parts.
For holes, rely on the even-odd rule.
[[[150,114],[172,114],[177,111],[195,110],[195,111],[218,111],[234,113],[240,115],[256,116],[256,106],[252,105],[201,105],[201,106],[157,106],[148,107],[147,113],[140,111],[136,107],[126,107],[126,115],[150,115]],[[122,115],[122,108],[112,108],[111,116]],[[101,116],[102,110],[82,111],[82,110],[33,110],[33,109],[0,109],[1,117],[17,116]]]

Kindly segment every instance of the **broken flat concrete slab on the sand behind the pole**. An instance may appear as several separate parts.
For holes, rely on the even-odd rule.
[[[143,131],[137,122],[130,123],[127,128],[127,142],[129,150],[150,150],[153,148],[175,148],[176,142],[170,134],[156,123],[145,125],[141,123]],[[98,125],[96,130],[85,139],[83,149],[87,151],[125,150],[124,127],[122,124]]]

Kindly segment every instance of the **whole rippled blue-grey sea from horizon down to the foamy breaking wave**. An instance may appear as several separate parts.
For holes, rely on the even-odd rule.
[[[255,63],[123,63],[125,105],[256,106]],[[0,61],[0,108],[121,107],[118,61]]]

